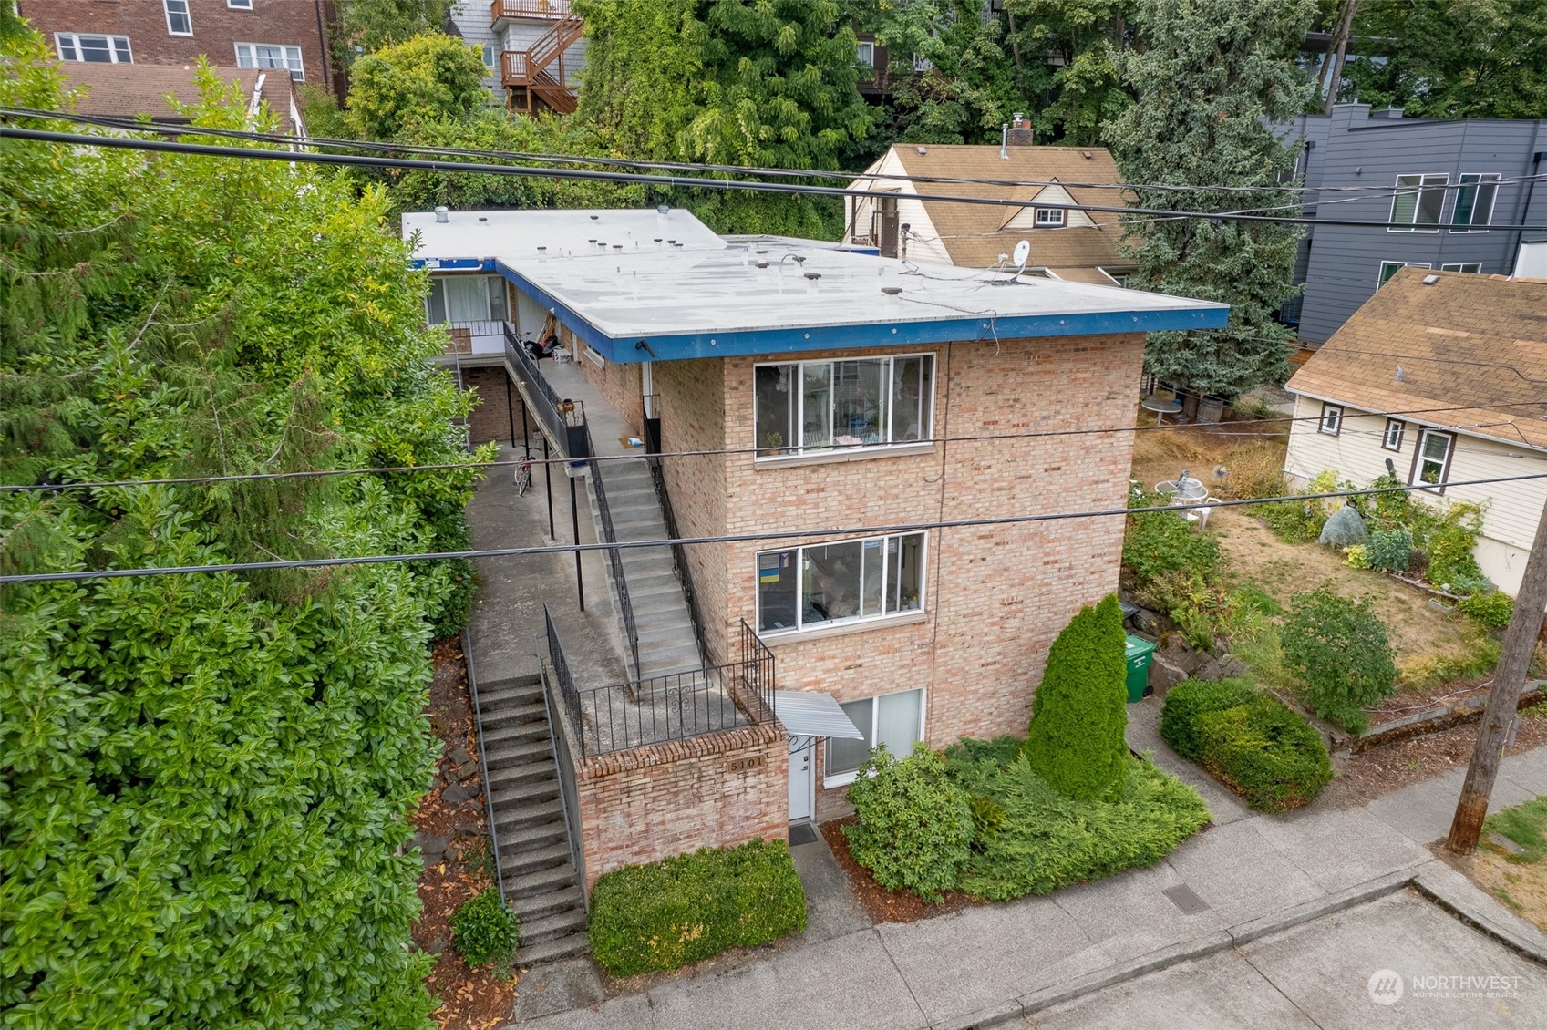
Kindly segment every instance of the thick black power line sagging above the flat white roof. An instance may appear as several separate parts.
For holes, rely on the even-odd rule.
[[[283,161],[286,164],[326,164],[336,167],[373,167],[373,169],[404,169],[412,172],[436,172],[436,173],[470,173],[470,175],[509,175],[517,178],[558,178],[558,179],[580,179],[580,181],[596,181],[596,182],[631,182],[639,186],[671,186],[671,187],[698,187],[698,189],[715,189],[715,190],[741,190],[752,193],[784,193],[784,195],[812,195],[812,196],[869,196],[869,198],[886,198],[896,196],[894,192],[886,190],[862,190],[852,187],[837,187],[837,186],[815,186],[803,182],[746,182],[739,179],[705,179],[696,176],[659,176],[659,175],[642,175],[634,172],[597,172],[589,169],[534,169],[528,165],[511,165],[511,164],[473,164],[463,161],[416,161],[408,158],[373,158],[367,155],[336,155],[336,153],[308,153],[305,150],[260,150],[251,147],[215,147],[209,144],[186,144],[173,142],[164,139],[136,139],[130,136],[96,136],[87,133],[59,133],[40,128],[17,128],[12,125],[0,125],[0,139],[28,139],[34,142],[54,142],[68,144],[73,147],[110,147],[118,150],[145,150],[153,153],[184,153],[206,158],[237,158],[243,161]],[[987,207],[1024,207],[1024,201],[996,198],[996,196],[962,196],[950,193],[913,193],[911,200],[920,201],[942,201],[953,204],[979,204]],[[1343,226],[1343,227],[1363,227],[1363,229],[1411,229],[1406,223],[1391,223],[1391,221],[1366,221],[1352,218],[1312,218],[1312,217],[1287,217],[1287,215],[1244,215],[1233,212],[1204,212],[1204,210],[1173,210],[1159,207],[1128,207],[1128,206],[1108,206],[1108,204],[1041,204],[1050,210],[1083,210],[1083,212],[1105,212],[1117,215],[1156,215],[1168,220],[1177,218],[1200,218],[1213,221],[1250,221],[1264,224],[1292,224],[1292,226]],[[1499,230],[1547,230],[1544,226],[1532,224],[1493,224],[1491,229]]]

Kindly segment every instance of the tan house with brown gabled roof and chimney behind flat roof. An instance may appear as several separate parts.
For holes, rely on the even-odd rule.
[[[1060,204],[1115,207],[1128,193],[1101,147],[1035,147],[1016,122],[1002,147],[893,144],[852,189],[896,192],[896,198],[849,198],[843,241],[876,247],[882,257],[962,268],[1015,268],[1015,244],[1030,243],[1026,271],[1046,278],[1123,286],[1134,263],[1118,254],[1115,213],[1069,210]],[[941,176],[979,182],[925,182],[894,176]],[[1019,186],[1046,182],[1047,186]],[[1094,184],[1094,186],[1088,186]],[[985,196],[998,204],[919,200],[919,193]]]

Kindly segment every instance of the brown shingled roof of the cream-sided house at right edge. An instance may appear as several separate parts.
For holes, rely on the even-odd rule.
[[[1287,388],[1547,448],[1547,281],[1400,269]]]

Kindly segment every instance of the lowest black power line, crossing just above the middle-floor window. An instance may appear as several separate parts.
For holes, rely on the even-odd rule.
[[[1443,484],[1446,489],[1463,486],[1491,486],[1497,483],[1521,483],[1527,479],[1547,479],[1547,472],[1533,472],[1519,476],[1491,476],[1488,479],[1460,479]],[[1284,496],[1242,498],[1236,501],[1213,501],[1207,507],[1244,507],[1250,504],[1278,504],[1284,501],[1323,501],[1338,496],[1368,496],[1372,493],[1405,493],[1409,490],[1436,490],[1439,486],[1419,483],[1392,487],[1364,487],[1358,490],[1330,490],[1327,493],[1292,493]],[[1018,526],[1026,523],[1052,523],[1071,518],[1109,518],[1114,515],[1143,515],[1146,512],[1190,512],[1205,507],[1199,501],[1187,504],[1149,504],[1143,507],[1114,507],[1083,512],[1049,512],[1043,515],[999,515],[993,518],[953,518],[925,523],[897,523],[890,526],[857,526],[848,529],[786,529],[761,534],[726,534],[718,537],[681,537],[676,540],[619,540],[616,543],[594,544],[549,544],[541,547],[484,547],[472,551],[427,551],[421,554],[377,554],[357,555],[348,558],[297,558],[277,561],[231,561],[223,564],[179,564],[179,566],[142,566],[131,569],[93,569],[79,572],[28,572],[15,575],[0,575],[0,586],[14,583],[59,583],[82,580],[118,580],[141,578],[155,575],[190,575],[206,572],[261,572],[272,569],[322,569],[354,564],[388,564],[398,561],[461,561],[470,558],[515,558],[540,554],[574,554],[583,551],[623,551],[639,547],[671,547],[698,546],[718,543],[755,543],[760,540],[811,540],[829,537],[879,537],[886,534],[925,532],[930,529],[972,529],[976,526]]]

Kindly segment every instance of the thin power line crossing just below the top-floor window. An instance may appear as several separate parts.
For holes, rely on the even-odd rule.
[[[1547,405],[1547,399],[1541,401],[1519,401],[1507,402],[1511,405],[1528,405],[1541,404]],[[1408,408],[1402,411],[1369,411],[1364,416],[1349,416],[1349,418],[1394,418],[1398,414],[1431,414],[1442,411],[1476,411],[1480,405],[1465,404],[1442,408]],[[1320,422],[1320,414],[1284,414],[1272,419],[1236,419],[1228,425],[1275,425],[1281,422]],[[1490,424],[1491,425],[1491,424]],[[1501,422],[1499,425],[1505,425]],[[1095,436],[1103,433],[1156,433],[1156,431],[1185,431],[1197,430],[1197,425],[1185,422],[1166,422],[1157,425],[1108,425],[1108,427],[1092,427],[1078,430],[1035,430],[1027,433],[982,433],[973,436],[931,436],[925,439],[907,441],[902,445],[927,445],[927,444],[985,444],[995,441],[1012,441],[1012,439],[1046,439],[1054,436]],[[1487,428],[1487,427],[1450,427],[1450,428]],[[1378,430],[1349,430],[1351,433],[1368,431],[1372,436],[1380,436]],[[1214,436],[1279,436],[1281,433],[1214,433]],[[514,445],[514,442],[512,442]],[[874,444],[834,444],[829,447],[821,447],[823,453],[843,452],[843,450],[869,450]],[[413,472],[446,472],[455,469],[509,469],[520,464],[531,466],[568,466],[577,462],[591,461],[639,461],[640,458],[719,458],[733,455],[758,455],[767,450],[766,447],[719,447],[712,450],[667,450],[647,455],[591,455],[586,458],[501,458],[495,461],[456,461],[456,462],[441,462],[441,464],[424,464],[424,466],[367,466],[360,469],[306,469],[299,472],[248,472],[238,475],[220,475],[220,476],[169,476],[161,479],[102,479],[102,481],[79,481],[79,483],[15,483],[0,486],[0,493],[26,493],[26,492],[48,492],[62,493],[65,490],[108,490],[108,489],[124,489],[124,487],[145,487],[145,486],[193,486],[206,483],[257,483],[268,479],[317,479],[326,476],[354,476],[368,473],[413,473]],[[815,448],[814,448],[815,450]]]

